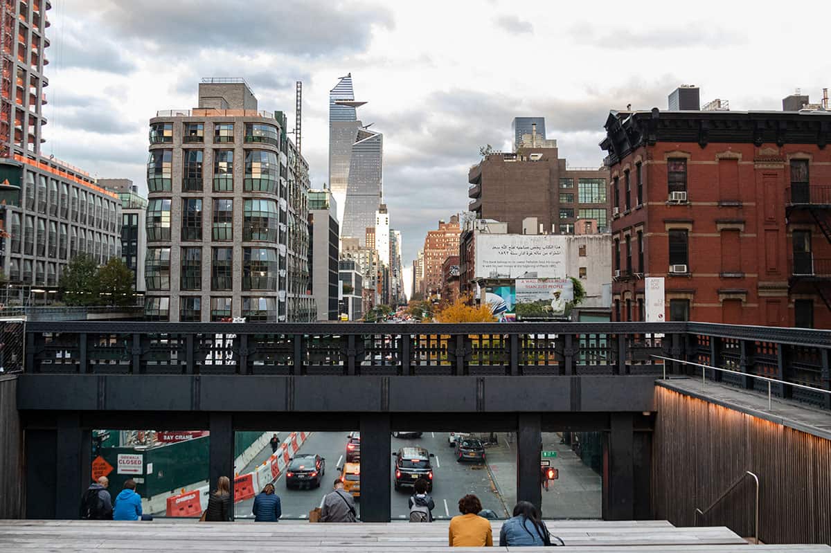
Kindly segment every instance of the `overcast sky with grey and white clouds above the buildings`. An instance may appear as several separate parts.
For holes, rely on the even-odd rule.
[[[676,8],[678,6],[675,6]],[[507,149],[511,119],[546,117],[574,166],[598,165],[608,110],[666,108],[681,83],[734,110],[781,109],[831,86],[827,17],[781,2],[52,0],[45,154],[145,187],[147,120],[193,107],[199,78],[242,76],[293,122],[327,181],[327,97],[352,72],[364,123],[385,137],[391,224],[415,257],[468,203],[479,145]],[[789,13],[792,12],[792,13]],[[819,13],[814,14],[819,16]],[[293,123],[290,123],[293,126]]]

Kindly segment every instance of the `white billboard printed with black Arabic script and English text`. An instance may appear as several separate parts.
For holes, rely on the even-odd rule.
[[[557,234],[476,234],[476,276],[565,278],[567,237]]]

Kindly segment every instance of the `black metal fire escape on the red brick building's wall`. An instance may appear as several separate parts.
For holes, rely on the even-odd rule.
[[[831,186],[810,186],[808,182],[792,183],[786,190],[785,218],[789,225],[813,223],[831,248]],[[792,232],[789,291],[803,293],[813,287],[831,311],[831,256],[816,257],[812,232]]]

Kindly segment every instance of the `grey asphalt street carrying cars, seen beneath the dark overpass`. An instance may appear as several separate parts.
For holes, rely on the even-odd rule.
[[[284,438],[288,433],[280,433]],[[485,509],[491,509],[497,515],[504,516],[505,511],[499,497],[492,491],[493,487],[487,468],[484,465],[475,463],[456,462],[453,457],[453,449],[447,445],[447,433],[425,432],[421,438],[398,439],[391,438],[392,448],[406,445],[419,445],[426,448],[430,453],[435,454],[433,459],[433,492],[435,501],[433,516],[436,519],[450,518],[459,514],[458,502],[460,497],[467,493],[475,493]],[[321,487],[318,489],[286,489],[283,475],[274,482],[277,494],[280,496],[283,507],[283,518],[306,518],[308,512],[314,507],[319,507],[323,495],[332,489],[332,481],[338,476],[337,467],[343,464],[343,455],[346,452],[347,432],[314,432],[307,438],[300,448],[300,453],[317,453],[326,458],[326,472]],[[271,454],[271,448],[266,446],[258,457],[251,463],[256,466],[263,462]],[[392,459],[391,459],[392,461]],[[394,481],[395,467],[390,472],[391,487],[391,513],[392,518],[406,519],[409,516],[407,498],[410,491],[396,492],[392,487]],[[237,518],[252,517],[251,507],[253,499],[239,502],[235,507]],[[357,502],[358,514],[360,516],[360,501]]]

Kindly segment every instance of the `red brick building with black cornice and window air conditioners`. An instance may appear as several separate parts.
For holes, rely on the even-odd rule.
[[[831,112],[612,112],[612,318],[831,327]]]

